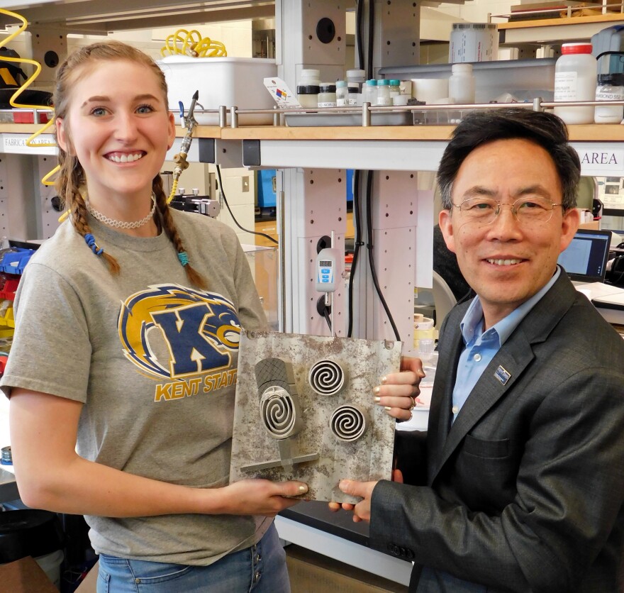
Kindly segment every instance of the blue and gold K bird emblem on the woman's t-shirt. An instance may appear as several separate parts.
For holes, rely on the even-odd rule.
[[[184,380],[230,366],[240,322],[234,305],[220,294],[158,284],[122,304],[118,332],[124,355],[142,372]],[[168,355],[158,358],[155,345],[163,340]]]

